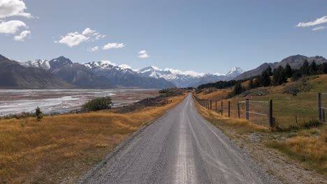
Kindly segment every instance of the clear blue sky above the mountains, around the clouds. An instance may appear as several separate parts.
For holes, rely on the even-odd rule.
[[[1,1],[22,6],[19,0]],[[27,9],[20,13],[3,13],[0,8],[0,23],[26,24],[15,33],[1,33],[0,27],[0,54],[19,61],[66,56],[80,63],[110,60],[132,68],[226,73],[234,66],[250,70],[293,54],[327,57],[327,1],[323,0],[23,2]],[[297,26],[319,18],[321,24]],[[83,35],[87,28],[91,32]],[[61,40],[68,33],[86,40],[78,45]],[[98,50],[91,52],[96,46]]]

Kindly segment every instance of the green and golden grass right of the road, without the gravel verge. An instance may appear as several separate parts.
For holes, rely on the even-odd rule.
[[[301,92],[293,96],[285,94],[288,89],[297,88]],[[256,91],[249,93],[249,96],[235,96],[235,98],[225,99],[224,107],[228,101],[231,102],[231,118],[227,118],[227,110],[224,108],[224,115],[214,111],[208,111],[201,107],[199,111],[208,121],[224,129],[233,128],[239,132],[259,132],[262,142],[269,148],[275,148],[291,158],[303,162],[305,166],[318,171],[327,176],[327,125],[318,123],[317,93],[327,92],[327,75],[312,76],[305,81],[289,82],[282,86],[271,86],[256,89],[257,91],[268,91],[265,95],[252,95]],[[214,91],[212,93],[199,93],[199,98],[213,100],[212,109],[215,109],[215,100],[219,100],[224,93],[231,89]],[[211,98],[210,98],[211,97]],[[250,121],[245,121],[245,105],[240,105],[240,115],[238,118],[237,102],[249,100],[268,101],[273,100],[273,117],[278,126],[276,130],[269,130],[268,118],[264,116],[250,115]],[[327,96],[323,104],[327,107]],[[220,109],[220,102],[218,109]],[[200,108],[200,107],[199,107]],[[266,113],[267,105],[250,105],[250,111]],[[258,128],[256,125],[260,125]],[[266,127],[266,130],[264,129]],[[263,128],[263,129],[262,129]]]

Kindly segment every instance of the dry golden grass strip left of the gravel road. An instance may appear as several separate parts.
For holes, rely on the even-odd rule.
[[[75,182],[112,148],[186,95],[163,107],[0,121],[0,183]]]

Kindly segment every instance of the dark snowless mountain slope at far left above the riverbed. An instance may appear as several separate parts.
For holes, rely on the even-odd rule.
[[[75,86],[40,68],[21,66],[0,55],[1,89],[73,89]]]

